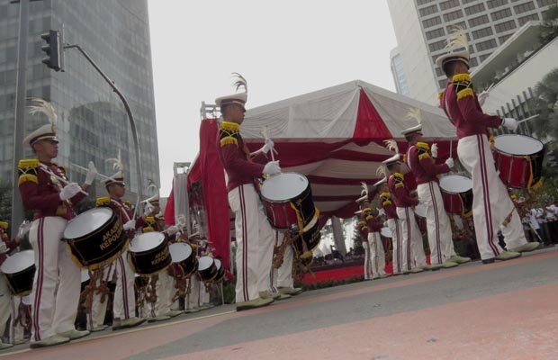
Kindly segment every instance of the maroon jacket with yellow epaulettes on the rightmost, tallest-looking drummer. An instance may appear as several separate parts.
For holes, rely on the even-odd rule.
[[[486,134],[488,128],[498,128],[500,116],[482,112],[481,104],[473,91],[469,74],[457,74],[448,79],[446,90],[440,96],[440,105],[457,128],[457,137]]]

